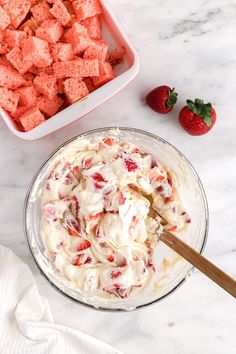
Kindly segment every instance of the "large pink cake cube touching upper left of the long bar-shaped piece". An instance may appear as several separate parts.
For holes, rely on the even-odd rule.
[[[39,68],[52,64],[49,45],[40,38],[29,37],[25,39],[22,43],[22,54],[27,61],[31,61]]]

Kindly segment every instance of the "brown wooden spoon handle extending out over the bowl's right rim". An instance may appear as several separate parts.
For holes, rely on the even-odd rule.
[[[172,233],[165,230],[160,240],[236,298],[236,281],[228,274]]]

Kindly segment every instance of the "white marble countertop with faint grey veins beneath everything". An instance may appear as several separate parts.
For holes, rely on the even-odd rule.
[[[22,228],[24,196],[40,164],[59,144],[88,129],[146,129],[179,148],[197,169],[210,207],[205,255],[236,277],[236,3],[234,0],[120,0],[108,3],[138,49],[137,79],[79,122],[39,141],[18,140],[0,121],[0,242],[28,263],[58,323],[103,339],[124,353],[234,354],[235,300],[195,272],[173,296],[126,314],[95,312],[56,293],[41,277]],[[143,103],[149,89],[175,86],[180,100],[160,116]],[[187,135],[178,125],[186,98],[211,101],[211,133]],[[79,351],[78,351],[79,352]]]

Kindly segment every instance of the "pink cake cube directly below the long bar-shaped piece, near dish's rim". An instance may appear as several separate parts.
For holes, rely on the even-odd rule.
[[[85,83],[76,78],[67,79],[63,83],[64,92],[70,104],[81,100],[81,98],[89,94],[89,90]]]

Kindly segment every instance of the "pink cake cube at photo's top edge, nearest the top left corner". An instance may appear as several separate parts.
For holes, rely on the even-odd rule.
[[[25,19],[30,6],[30,0],[9,0],[6,2],[4,9],[10,16],[11,24],[14,28],[18,28]]]

